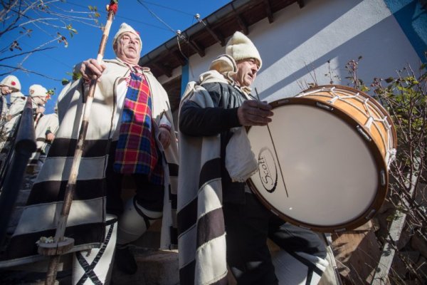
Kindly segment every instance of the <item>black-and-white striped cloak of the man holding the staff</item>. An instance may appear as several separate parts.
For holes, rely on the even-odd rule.
[[[110,137],[114,132],[115,90],[120,79],[129,75],[130,69],[119,60],[105,60],[104,63],[107,68],[95,89],[83,157],[65,231],[65,237],[75,239],[73,251],[99,247],[105,237],[105,170]],[[159,123],[162,114],[165,114],[169,121],[173,122],[166,91],[149,72],[149,68],[144,68],[144,75],[153,94],[152,117]],[[83,83],[75,81],[68,86],[68,92],[58,104],[63,113],[60,128],[9,242],[7,259],[37,257],[36,241],[40,237],[55,236],[83,116],[82,94]],[[163,248],[173,247],[174,237],[171,232],[175,232],[176,228],[176,219],[172,217],[174,209],[171,206],[176,204],[173,200],[176,199],[178,174],[178,147],[173,124],[171,133],[172,142],[165,151],[168,165],[164,165]]]

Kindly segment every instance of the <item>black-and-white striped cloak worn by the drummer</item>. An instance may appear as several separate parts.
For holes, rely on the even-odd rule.
[[[200,82],[229,83],[217,71]],[[214,107],[209,93],[189,83],[181,105],[192,100]],[[191,154],[191,155],[189,155]],[[178,247],[181,284],[226,284],[226,231],[222,209],[221,137],[191,137],[179,133]],[[185,157],[185,158],[184,158]],[[189,171],[191,170],[191,171]]]

